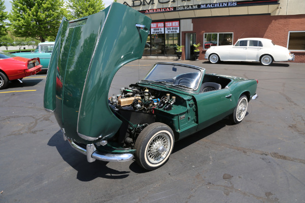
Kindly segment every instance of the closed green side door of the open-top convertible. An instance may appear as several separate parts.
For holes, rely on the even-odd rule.
[[[232,113],[235,101],[228,88],[194,95],[198,108],[198,128],[203,129]]]

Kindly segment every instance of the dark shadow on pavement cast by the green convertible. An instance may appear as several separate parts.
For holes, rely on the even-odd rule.
[[[192,145],[193,143],[209,136],[210,134],[220,130],[227,125],[232,125],[232,122],[230,120],[223,119],[207,128],[204,128],[203,130],[200,130],[199,132],[196,132],[186,139],[176,142],[172,153],[178,152],[185,147]],[[58,130],[52,136],[48,142],[48,145],[56,147],[58,153],[63,157],[64,161],[66,161],[78,172],[77,179],[80,181],[87,182],[96,178],[124,179],[129,176],[128,173],[130,172],[117,171],[107,167],[108,162],[99,160],[96,160],[92,163],[87,162],[85,155],[71,148],[68,142],[63,141],[63,133],[60,130]],[[135,160],[130,161],[129,168],[132,172],[137,174],[149,172],[141,168]]]

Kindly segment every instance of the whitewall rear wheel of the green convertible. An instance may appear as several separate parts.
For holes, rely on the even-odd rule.
[[[234,124],[238,124],[245,118],[248,109],[248,98],[246,95],[241,95],[237,101],[237,105],[233,114],[230,116],[230,120]]]

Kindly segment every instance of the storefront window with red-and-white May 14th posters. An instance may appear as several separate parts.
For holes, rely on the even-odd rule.
[[[151,23],[143,55],[174,55],[180,44],[179,21]]]

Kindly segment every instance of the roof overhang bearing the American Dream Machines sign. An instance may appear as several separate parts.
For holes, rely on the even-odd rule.
[[[132,1],[132,5],[124,2],[133,9],[145,14],[152,20],[184,19],[213,16],[236,16],[236,15],[258,15],[271,14],[280,5],[278,0],[248,0],[236,2],[222,2],[202,4],[206,1],[168,1],[163,4],[154,3],[150,0]],[[161,6],[161,7],[160,7]]]

